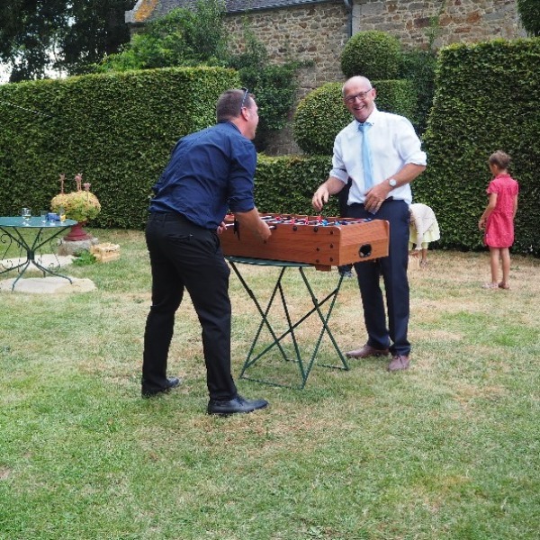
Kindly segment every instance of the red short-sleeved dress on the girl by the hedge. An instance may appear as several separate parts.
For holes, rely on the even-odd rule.
[[[489,247],[510,247],[514,243],[514,198],[519,185],[508,174],[497,175],[487,193],[497,193],[497,204],[486,220],[484,243]]]

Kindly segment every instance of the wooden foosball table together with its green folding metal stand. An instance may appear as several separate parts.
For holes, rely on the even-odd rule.
[[[239,227],[232,216],[225,220],[226,229],[220,235],[223,254],[229,261],[234,273],[245,291],[254,302],[261,318],[257,332],[247,353],[247,358],[240,372],[241,379],[257,381],[258,383],[274,384],[303,389],[311,373],[323,338],[328,336],[331,347],[338,356],[338,365],[320,364],[325,367],[348,370],[345,357],[329,327],[329,320],[334,310],[338,293],[343,282],[339,275],[337,283],[329,293],[314,292],[313,275],[306,270],[315,269],[328,272],[332,266],[345,266],[358,262],[373,261],[379,257],[388,256],[389,223],[385,220],[357,220],[353,218],[326,218],[306,215],[278,215],[273,213],[261,214],[271,227],[272,236],[266,241],[255,238],[247,229]],[[263,308],[257,294],[247,284],[245,275],[240,272],[241,265],[266,266],[278,269],[275,284],[270,298]],[[310,309],[297,320],[291,314],[291,294],[286,294],[287,270],[298,269],[302,284],[310,298]],[[245,273],[246,274],[246,273]],[[262,293],[262,292],[261,292]],[[260,298],[261,294],[259,294]],[[289,298],[289,301],[287,300]],[[276,300],[278,299],[278,300]],[[277,322],[271,321],[273,306],[277,304],[283,309],[284,331],[275,329]],[[296,307],[296,306],[294,306]],[[324,310],[324,311],[323,311]],[[304,359],[302,347],[299,344],[299,327],[311,315],[317,314],[320,320],[319,336],[316,339],[311,357]],[[264,338],[263,330],[267,330],[269,340]],[[284,339],[289,338],[291,346],[286,347]],[[303,347],[305,349],[305,347]],[[289,352],[288,352],[289,351]],[[275,382],[275,377],[267,377],[268,367],[275,361],[277,353],[281,356],[280,365],[295,365],[300,371],[301,382],[297,385]],[[330,360],[331,361],[331,360]],[[285,364],[284,364],[285,363]],[[263,375],[251,376],[256,368]],[[265,369],[266,368],[266,369]],[[271,367],[270,367],[271,371]]]

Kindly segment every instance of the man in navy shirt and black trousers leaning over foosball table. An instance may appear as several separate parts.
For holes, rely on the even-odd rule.
[[[180,139],[154,185],[146,239],[152,269],[142,363],[142,396],[168,392],[180,383],[166,377],[175,312],[184,290],[202,326],[210,393],[209,414],[264,409],[265,400],[238,395],[230,374],[229,266],[218,234],[228,210],[242,229],[261,241],[271,235],[253,197],[257,152],[257,103],[246,88],[220,95],[218,123]]]

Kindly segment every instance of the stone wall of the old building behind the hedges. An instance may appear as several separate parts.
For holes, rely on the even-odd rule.
[[[131,30],[196,0],[139,0],[126,12]],[[525,36],[517,0],[225,0],[237,49],[244,25],[265,43],[270,59],[309,60],[299,74],[298,99],[330,81],[344,80],[340,54],[357,31],[387,31],[403,48],[436,49],[454,42],[476,42]],[[268,153],[294,152],[284,130]]]

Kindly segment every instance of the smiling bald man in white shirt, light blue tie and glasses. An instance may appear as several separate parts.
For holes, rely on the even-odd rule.
[[[348,217],[390,222],[389,256],[355,265],[368,338],[364,347],[348,352],[347,356],[391,354],[388,370],[395,372],[410,365],[407,338],[410,182],[425,170],[427,161],[410,121],[379,111],[375,97],[373,85],[364,76],[354,76],[343,86],[343,99],[355,120],[338,133],[329,179],[314,193],[312,205],[316,211],[322,211],[329,196],[341,191],[350,177]]]

